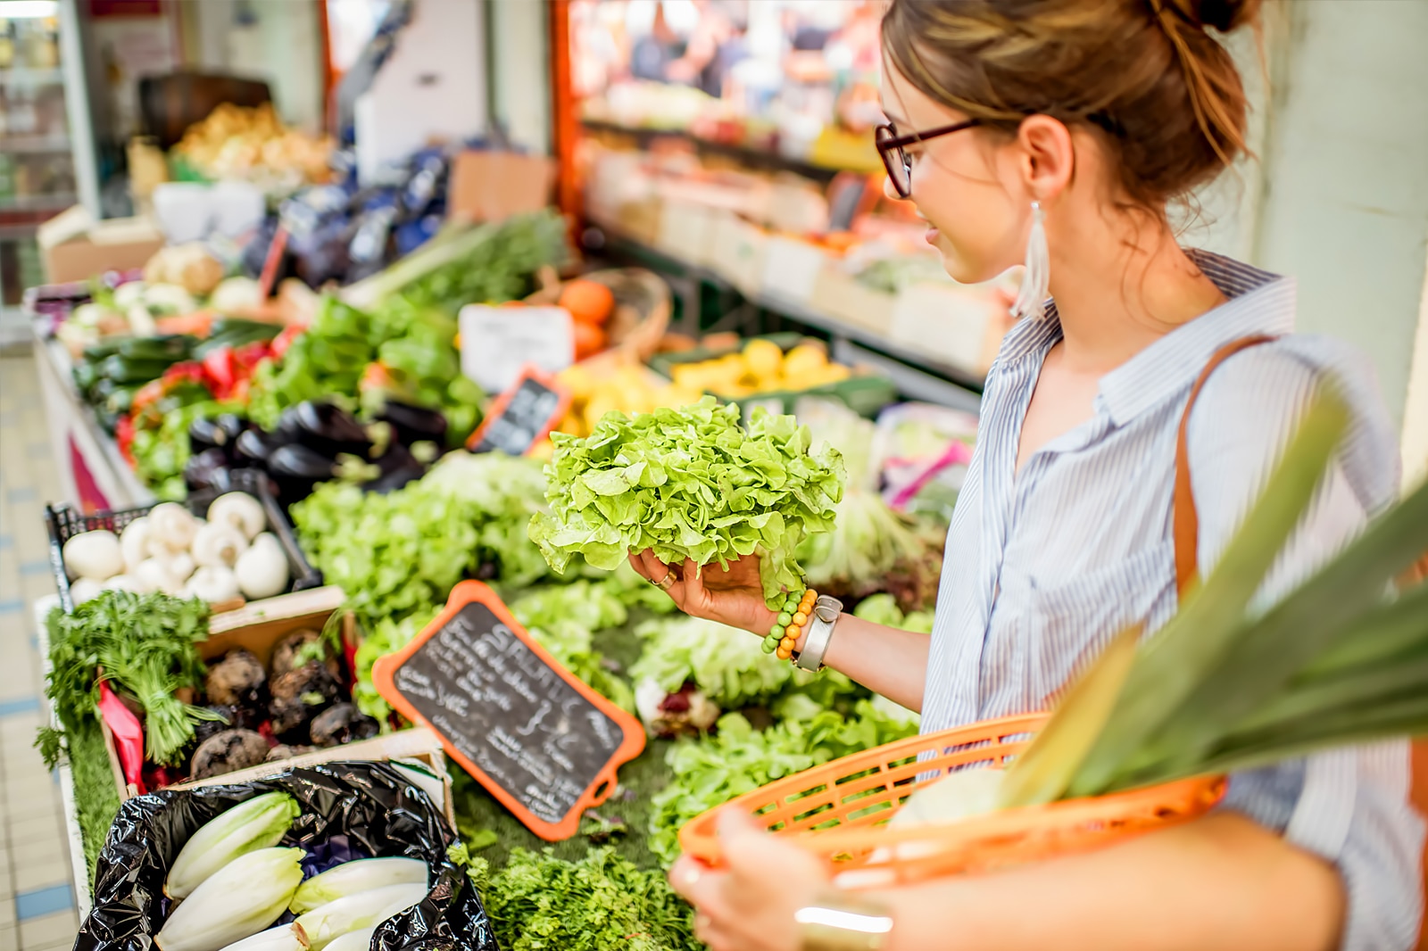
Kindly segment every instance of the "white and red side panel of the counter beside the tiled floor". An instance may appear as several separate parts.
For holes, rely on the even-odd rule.
[[[100,428],[94,411],[80,400],[73,361],[64,346],[36,334],[33,353],[60,480],[56,498],[49,501],[69,501],[84,513],[151,504],[153,493],[139,481],[119,454],[119,446]]]

